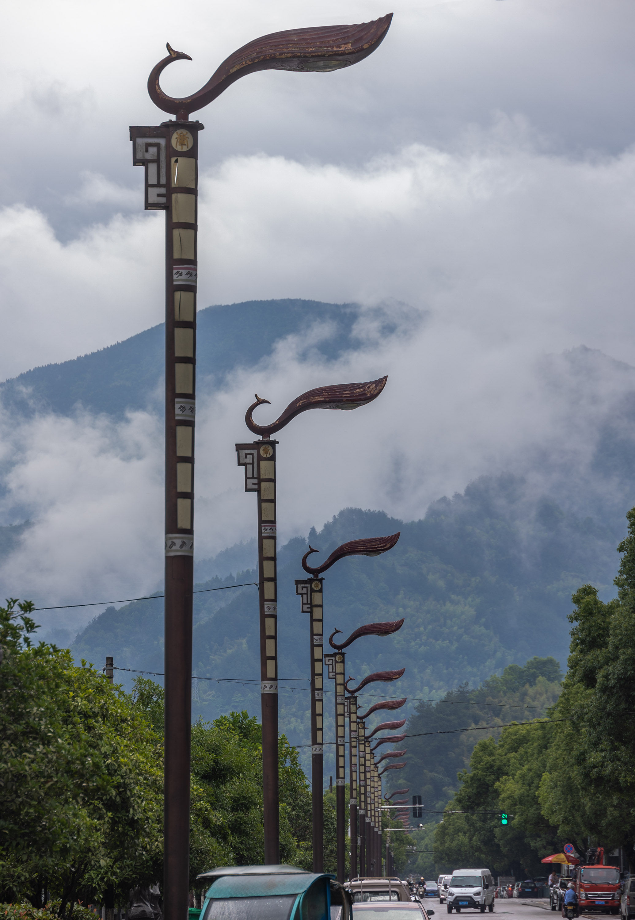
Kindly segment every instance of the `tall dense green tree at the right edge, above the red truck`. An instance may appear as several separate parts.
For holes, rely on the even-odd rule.
[[[554,717],[563,719],[540,784],[543,811],[584,852],[591,836],[608,847],[635,844],[635,509],[615,584],[603,603],[585,584],[575,609],[569,668]]]

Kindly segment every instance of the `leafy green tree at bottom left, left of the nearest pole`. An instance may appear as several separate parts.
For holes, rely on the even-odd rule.
[[[0,889],[68,918],[79,892],[158,878],[161,752],[129,696],[32,643],[31,610],[0,608]]]

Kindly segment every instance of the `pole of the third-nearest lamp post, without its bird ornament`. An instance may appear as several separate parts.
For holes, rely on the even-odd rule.
[[[324,871],[323,579],[298,579],[302,613],[309,614],[311,661],[311,804],[313,872]]]

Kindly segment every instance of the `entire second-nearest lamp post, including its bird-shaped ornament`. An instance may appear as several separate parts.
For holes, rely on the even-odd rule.
[[[318,386],[289,403],[276,421],[258,425],[253,419],[257,406],[268,404],[256,395],[244,420],[249,431],[260,435],[253,443],[236,444],[238,466],[244,466],[244,490],[258,495],[258,582],[260,585],[260,703],[263,733],[263,800],[265,863],[280,861],[278,806],[278,575],[277,575],[277,485],[276,448],[272,434],[283,429],[301,412],[312,408],[353,409],[366,406],[379,397],[387,377],[365,384]],[[311,618],[312,629],[316,616]],[[316,627],[315,627],[316,628]],[[322,673],[312,673],[313,703]],[[317,742],[315,742],[317,746]],[[322,787],[321,787],[322,788]]]

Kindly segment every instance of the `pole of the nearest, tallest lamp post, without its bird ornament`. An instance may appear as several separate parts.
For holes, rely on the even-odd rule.
[[[199,121],[130,128],[145,208],[165,212],[164,916],[187,911]]]

